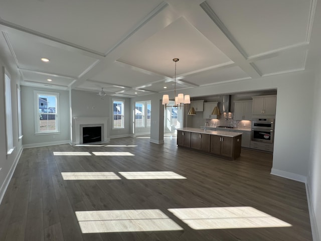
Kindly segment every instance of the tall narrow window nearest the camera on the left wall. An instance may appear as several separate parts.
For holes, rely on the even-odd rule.
[[[13,129],[12,129],[12,108],[11,108],[11,76],[5,72],[5,101],[6,101],[6,134],[7,134],[7,154],[14,150]]]

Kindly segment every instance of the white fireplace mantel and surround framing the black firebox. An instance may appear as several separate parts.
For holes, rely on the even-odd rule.
[[[108,142],[107,121],[108,117],[74,117],[76,142],[74,144],[83,144],[82,128],[101,127],[101,142]]]

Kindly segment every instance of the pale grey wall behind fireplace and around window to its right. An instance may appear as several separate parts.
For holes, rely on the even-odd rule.
[[[125,118],[124,129],[112,129],[112,99],[117,98],[124,101]],[[130,136],[130,99],[113,96],[99,96],[94,92],[81,90],[71,91],[71,111],[73,117],[108,117],[107,138],[127,137]],[[72,121],[74,126],[74,121]],[[75,129],[72,128],[72,138],[75,140]]]

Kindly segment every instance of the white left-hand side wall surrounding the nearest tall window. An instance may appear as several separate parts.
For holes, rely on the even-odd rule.
[[[11,75],[11,105],[13,120],[13,143],[15,150],[11,155],[7,156],[7,137],[6,137],[6,108],[4,93],[4,73],[3,66],[6,64],[0,59],[0,203],[3,199],[7,186],[10,182],[12,174],[18,163],[22,152],[22,140],[18,138],[18,105],[17,105],[17,84],[19,83],[19,75],[7,69]]]

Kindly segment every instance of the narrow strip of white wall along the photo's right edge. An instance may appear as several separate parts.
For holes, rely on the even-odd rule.
[[[321,65],[319,65],[321,66]],[[307,175],[313,240],[321,240],[321,68],[315,76],[310,162]]]

